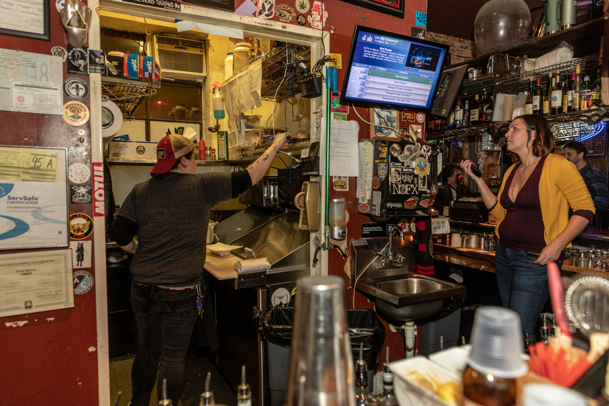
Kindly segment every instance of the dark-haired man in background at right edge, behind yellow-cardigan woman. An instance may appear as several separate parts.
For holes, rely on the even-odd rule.
[[[609,191],[607,191],[607,180],[599,169],[586,163],[583,159],[588,154],[588,149],[583,142],[568,141],[563,145],[563,153],[565,158],[573,163],[579,173],[582,175],[583,181],[588,186],[588,191],[594,201],[594,208],[606,209],[609,204]]]

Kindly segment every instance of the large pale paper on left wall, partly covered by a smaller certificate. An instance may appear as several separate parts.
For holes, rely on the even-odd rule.
[[[63,60],[54,55],[0,48],[0,110],[12,110],[10,81],[63,83]]]

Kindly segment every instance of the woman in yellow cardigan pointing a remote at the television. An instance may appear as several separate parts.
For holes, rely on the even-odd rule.
[[[554,136],[543,116],[516,117],[506,136],[507,150],[519,163],[505,172],[498,197],[473,175],[470,160],[461,166],[497,219],[495,270],[501,302],[520,315],[523,335],[534,342],[535,322],[549,298],[544,265],[562,265],[563,250],[594,216],[594,203],[575,165],[552,153]]]

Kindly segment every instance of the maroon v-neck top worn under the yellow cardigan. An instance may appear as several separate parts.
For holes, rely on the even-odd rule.
[[[501,194],[501,206],[507,211],[505,218],[499,225],[500,241],[505,247],[519,251],[530,251],[541,253],[546,247],[546,239],[543,236],[543,217],[541,216],[541,204],[539,201],[539,180],[541,170],[547,155],[541,157],[529,179],[524,183],[522,189],[516,195],[516,201],[510,199],[509,193],[516,170],[521,163],[510,173],[505,182]]]

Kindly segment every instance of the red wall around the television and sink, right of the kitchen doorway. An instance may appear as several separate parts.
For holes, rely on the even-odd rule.
[[[297,0],[275,0],[275,4],[286,4],[295,9],[296,1]],[[309,0],[311,7],[313,7],[313,1],[314,0]],[[242,0],[236,0],[235,7],[239,7],[239,5],[242,3]],[[328,12],[328,18],[326,19],[324,30],[326,32],[330,32],[330,47],[329,50],[326,50],[326,52],[342,55],[343,69],[338,69],[337,75],[339,86],[342,86],[343,76],[345,74],[344,66],[346,65],[349,57],[353,30],[356,25],[364,26],[367,24],[367,26],[370,28],[388,30],[390,32],[400,33],[403,35],[411,35],[410,29],[411,27],[415,27],[416,12],[427,12],[427,0],[406,1],[403,19],[375,12],[373,10],[368,10],[364,7],[361,7],[360,13],[360,10],[358,10],[356,5],[340,0],[325,0],[323,2],[323,6],[326,12]],[[305,15],[311,15],[311,10],[309,10],[309,12]],[[362,15],[367,16],[365,18],[365,23],[364,19],[362,19]],[[275,16],[273,20],[280,21],[280,18]],[[297,21],[292,21],[290,24],[297,24]],[[305,27],[310,26],[311,24],[309,22],[305,24]],[[417,28],[421,29],[421,27]],[[358,108],[357,111],[362,117],[367,119],[367,121],[370,121],[368,119],[368,109]],[[359,123],[359,138],[370,138],[370,125],[365,124],[356,116],[356,114],[353,112],[353,107],[350,107],[348,119],[356,120]],[[422,123],[422,125],[424,126],[425,124]],[[333,191],[332,189],[330,190],[330,198],[345,197],[347,199],[347,211],[349,213],[349,221],[347,223],[347,241],[361,237],[362,223],[373,222],[370,220],[370,217],[356,213],[356,183],[357,178],[350,178],[349,191],[337,192]],[[408,234],[414,235],[414,233]],[[346,252],[348,255],[350,255],[349,247],[347,247]],[[331,250],[328,253],[328,273],[330,275],[340,276],[345,281],[345,286],[347,287],[345,290],[345,299],[347,301],[348,308],[351,308],[353,295],[355,294],[356,309],[373,309],[373,302],[365,298],[365,296],[360,292],[354,293],[354,290],[350,287],[351,283],[348,274],[348,260],[342,259],[336,250]],[[404,337],[401,334],[392,333],[389,329],[389,324],[387,324],[387,322],[384,320],[382,320],[382,322],[387,329],[385,346],[389,346],[390,360],[393,361],[403,359],[406,357],[406,351],[404,349]],[[417,336],[417,340],[418,337],[420,336]]]

